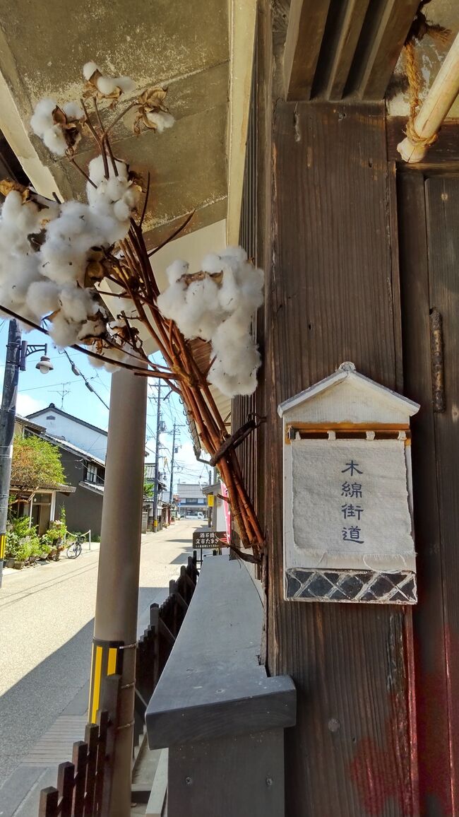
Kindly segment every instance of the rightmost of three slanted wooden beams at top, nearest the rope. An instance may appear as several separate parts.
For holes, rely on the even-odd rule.
[[[363,100],[383,99],[418,6],[419,0],[373,0],[359,39],[348,92]]]

